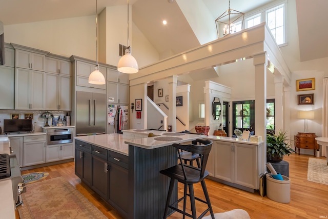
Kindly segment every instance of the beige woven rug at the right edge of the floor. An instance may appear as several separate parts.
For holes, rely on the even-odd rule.
[[[326,160],[309,158],[308,181],[328,185],[328,166]]]

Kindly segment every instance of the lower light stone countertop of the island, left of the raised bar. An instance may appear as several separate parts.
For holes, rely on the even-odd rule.
[[[97,134],[74,137],[77,140],[129,156],[129,146],[122,134]]]

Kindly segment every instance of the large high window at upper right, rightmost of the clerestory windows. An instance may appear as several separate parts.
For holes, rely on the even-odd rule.
[[[277,44],[284,44],[284,5],[280,5],[267,11],[267,24],[276,39]]]

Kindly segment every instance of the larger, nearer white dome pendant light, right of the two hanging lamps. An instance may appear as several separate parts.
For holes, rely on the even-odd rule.
[[[139,71],[138,63],[131,55],[131,47],[129,46],[129,0],[128,0],[128,47],[117,64],[117,70],[122,73],[133,74]]]

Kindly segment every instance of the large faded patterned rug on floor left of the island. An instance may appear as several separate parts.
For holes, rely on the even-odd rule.
[[[63,177],[28,184],[26,191],[20,219],[107,218]]]

